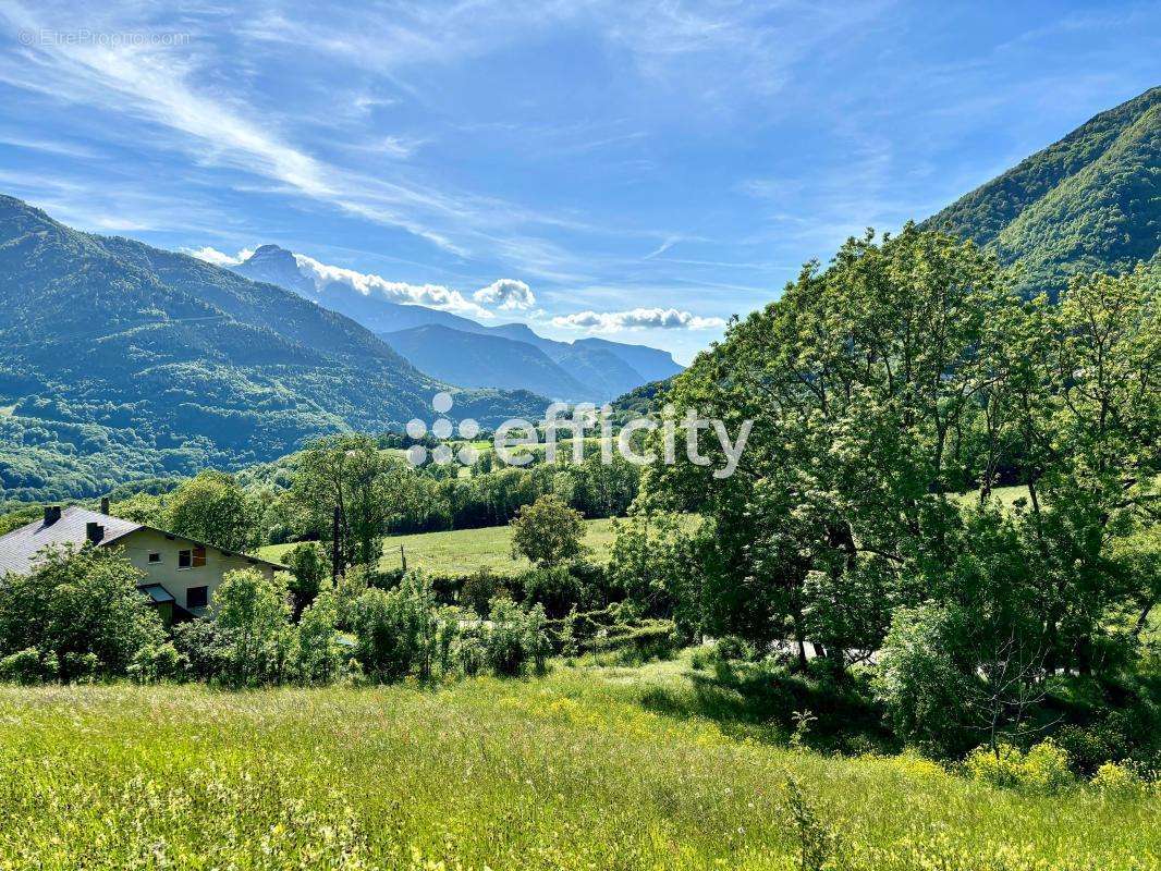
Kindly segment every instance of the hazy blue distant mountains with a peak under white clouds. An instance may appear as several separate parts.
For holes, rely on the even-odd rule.
[[[665,351],[589,338],[556,341],[527,324],[486,326],[449,311],[319,282],[294,252],[262,245],[235,272],[277,285],[375,332],[416,367],[464,387],[527,389],[554,399],[606,402],[682,370]]]

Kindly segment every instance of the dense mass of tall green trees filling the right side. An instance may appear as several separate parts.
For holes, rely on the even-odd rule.
[[[619,559],[655,614],[860,688],[929,753],[1053,733],[1155,762],[1158,287],[1026,301],[971,244],[850,240],[675,380],[753,430],[733,477],[650,468]],[[654,528],[677,510],[700,531]]]

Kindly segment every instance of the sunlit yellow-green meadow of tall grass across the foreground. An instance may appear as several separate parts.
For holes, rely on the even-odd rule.
[[[0,689],[0,868],[1155,869],[1155,798],[729,737],[679,665],[432,691]],[[801,814],[800,814],[801,819]],[[442,863],[442,864],[441,864]]]

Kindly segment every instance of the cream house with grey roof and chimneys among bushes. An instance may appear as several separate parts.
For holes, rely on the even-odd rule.
[[[275,571],[286,569],[276,562],[111,517],[108,511],[108,499],[102,499],[101,511],[44,509],[43,520],[0,538],[0,576],[28,574],[46,547],[81,547],[85,544],[115,547],[144,573],[137,589],[149,596],[163,619],[170,622],[203,616],[228,571],[258,569],[269,578]]]

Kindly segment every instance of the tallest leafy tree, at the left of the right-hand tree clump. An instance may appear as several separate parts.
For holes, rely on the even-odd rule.
[[[881,642],[889,606],[920,595],[915,569],[951,562],[953,491],[976,476],[981,397],[1004,376],[1017,310],[969,243],[911,225],[868,233],[825,271],[809,264],[677,380],[679,405],[735,430],[755,422],[731,478],[683,465],[650,480],[713,523],[714,622],[792,634],[803,658],[807,636],[836,658]]]

